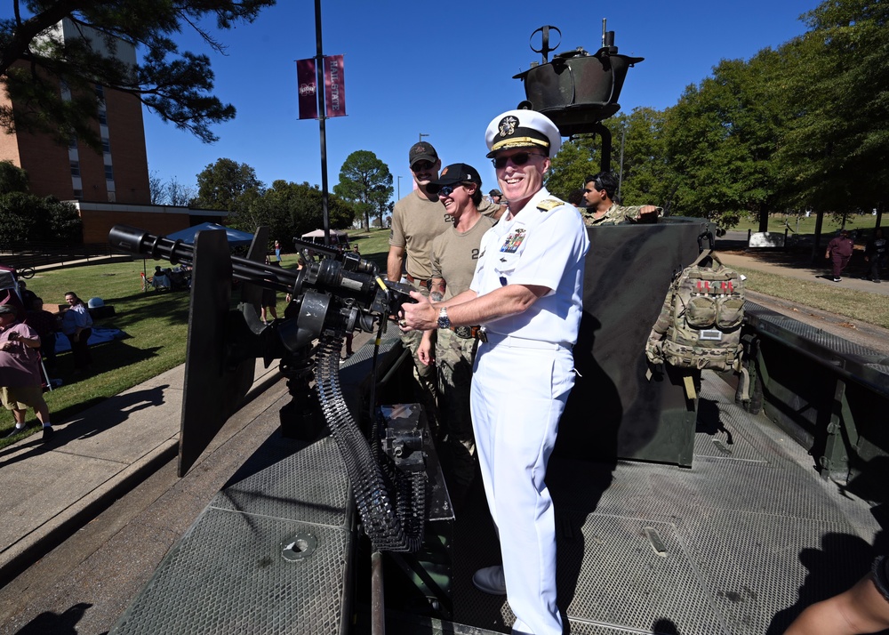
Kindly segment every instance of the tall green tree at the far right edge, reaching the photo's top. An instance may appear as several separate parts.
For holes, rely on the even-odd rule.
[[[793,73],[780,155],[799,205],[848,213],[885,202],[889,183],[889,6],[831,0],[789,43]]]

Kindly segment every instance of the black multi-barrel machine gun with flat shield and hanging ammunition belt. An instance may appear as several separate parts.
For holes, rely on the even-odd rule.
[[[371,262],[353,253],[335,254],[335,250],[298,271],[264,264],[266,228],[257,230],[247,258],[228,253],[223,231],[198,232],[192,246],[116,225],[108,241],[125,252],[193,267],[180,476],[246,394],[254,360],[263,358],[268,366],[279,358],[292,395],[290,412],[301,415],[306,423],[312,413],[324,416],[373,547],[377,551],[420,548],[425,473],[400,470],[391,456],[380,451],[378,439],[368,443],[349,413],[339,382],[340,348],[346,334],[372,333],[374,326],[381,332],[388,316],[397,315],[404,302],[413,301],[410,285],[385,282]],[[244,284],[244,301],[237,311],[228,309],[232,279]],[[284,319],[262,324],[256,306],[261,289],[291,296]],[[304,438],[313,436],[311,431],[302,432]]]

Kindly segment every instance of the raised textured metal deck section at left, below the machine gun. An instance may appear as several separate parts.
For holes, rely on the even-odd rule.
[[[111,632],[347,632],[350,496],[332,438],[270,438]]]

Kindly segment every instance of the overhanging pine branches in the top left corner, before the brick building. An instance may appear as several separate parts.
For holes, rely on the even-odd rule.
[[[172,36],[193,28],[214,52],[224,52],[200,23],[215,20],[220,29],[252,22],[275,0],[12,0],[14,16],[0,20],[0,82],[12,100],[28,104],[12,113],[0,107],[7,131],[51,133],[68,142],[77,137],[99,147],[94,120],[100,99],[95,84],[126,92],[164,121],[216,141],[210,125],[235,117],[235,108],[214,97],[210,59],[180,52]],[[54,27],[67,20],[80,37],[60,37]],[[115,52],[118,41],[140,48],[142,63],[131,66]],[[60,84],[71,99],[63,98]]]

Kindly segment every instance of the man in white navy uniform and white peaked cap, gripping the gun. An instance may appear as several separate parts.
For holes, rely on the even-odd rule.
[[[558,420],[574,384],[589,238],[581,215],[549,195],[543,178],[561,145],[533,110],[494,117],[485,133],[509,210],[482,238],[469,290],[432,303],[414,293],[405,330],[482,325],[472,378],[472,425],[502,567],[473,583],[506,593],[514,633],[561,635],[556,532],[544,482]]]

